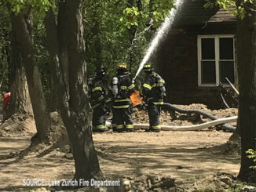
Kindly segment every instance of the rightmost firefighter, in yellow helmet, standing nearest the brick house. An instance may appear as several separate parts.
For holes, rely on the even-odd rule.
[[[164,80],[161,76],[153,72],[152,65],[145,63],[143,71],[146,74],[144,79],[142,94],[145,103],[148,104],[149,129],[146,132],[160,132],[159,116],[163,98],[166,96]]]

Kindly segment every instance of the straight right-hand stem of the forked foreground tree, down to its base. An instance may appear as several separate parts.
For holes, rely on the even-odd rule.
[[[83,41],[82,0],[69,0],[67,5],[69,8],[68,70],[71,121],[66,121],[66,126],[74,151],[75,178],[99,178],[102,173],[90,128],[85,43]]]

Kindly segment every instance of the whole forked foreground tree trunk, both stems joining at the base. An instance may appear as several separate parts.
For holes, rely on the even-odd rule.
[[[63,13],[61,9],[66,9],[65,6],[68,6],[69,9],[68,20],[66,20],[68,31],[66,31],[67,34],[61,35],[68,37],[69,91],[66,88],[65,72],[62,67],[67,60],[63,57],[63,49],[59,47],[63,43],[57,42],[57,40],[60,41],[62,39],[57,36],[60,34],[57,32],[57,28],[60,27],[57,27],[55,24],[55,18],[51,9],[46,14],[45,20],[49,56],[51,62],[55,63],[57,91],[62,96],[58,100],[58,106],[60,107],[61,118],[68,131],[75,158],[74,179],[100,179],[102,173],[90,129],[90,107],[87,96],[85,45],[83,42],[82,1],[66,1],[60,7],[59,14]],[[67,18],[66,16],[64,17]],[[59,20],[61,20],[60,15]]]

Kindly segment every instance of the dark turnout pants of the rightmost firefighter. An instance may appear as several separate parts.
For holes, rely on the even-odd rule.
[[[159,117],[161,106],[154,103],[148,103],[149,129],[161,129]]]

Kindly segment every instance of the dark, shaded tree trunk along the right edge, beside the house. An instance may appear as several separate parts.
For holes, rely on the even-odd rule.
[[[254,2],[254,6],[256,3]],[[247,4],[247,6],[251,6]],[[241,168],[239,178],[247,181],[254,174],[246,151],[254,149],[256,138],[256,13],[247,10],[237,21],[237,59],[239,78],[239,126],[241,135]]]

